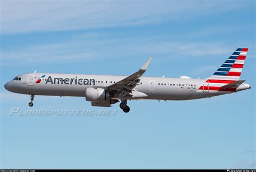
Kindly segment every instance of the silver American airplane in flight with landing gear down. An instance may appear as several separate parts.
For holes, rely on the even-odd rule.
[[[142,77],[151,59],[130,76],[28,73],[16,76],[4,88],[18,94],[30,95],[33,106],[35,95],[85,97],[92,106],[110,107],[120,102],[120,108],[130,111],[127,101],[154,99],[181,101],[231,94],[251,85],[239,80],[248,48],[237,48],[214,72],[204,79],[187,76]]]

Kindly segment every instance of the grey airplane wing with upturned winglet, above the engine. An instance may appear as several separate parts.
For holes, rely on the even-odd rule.
[[[109,91],[110,94],[113,96],[118,94],[119,96],[128,95],[132,97],[132,91],[136,91],[134,90],[134,87],[136,87],[136,85],[139,85],[139,77],[145,73],[147,67],[151,62],[151,59],[152,58],[149,58],[149,60],[147,60],[143,67],[140,68],[136,73],[127,76],[123,80],[120,80],[112,85],[109,85],[108,87],[106,87],[106,90]]]

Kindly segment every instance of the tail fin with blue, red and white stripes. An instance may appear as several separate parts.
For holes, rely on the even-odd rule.
[[[238,48],[208,80],[238,81],[248,48]]]

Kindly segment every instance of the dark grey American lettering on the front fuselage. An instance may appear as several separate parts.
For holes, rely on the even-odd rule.
[[[61,78],[61,77],[55,77],[52,79],[51,76],[49,76],[46,80],[46,84],[74,84],[74,85],[95,85],[95,79],[84,79],[84,78]]]

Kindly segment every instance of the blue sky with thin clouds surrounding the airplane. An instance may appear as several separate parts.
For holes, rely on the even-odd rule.
[[[1,1],[1,168],[256,168],[255,1]],[[205,78],[238,47],[252,89],[194,101],[92,107],[36,96],[32,110],[118,110],[110,116],[10,116],[23,73]]]

